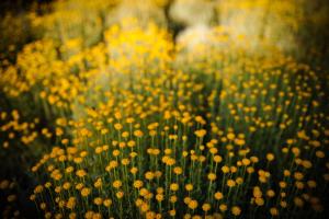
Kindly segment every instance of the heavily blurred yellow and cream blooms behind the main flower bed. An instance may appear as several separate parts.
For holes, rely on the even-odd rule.
[[[214,25],[247,37],[252,47],[273,45],[304,61],[327,67],[329,4],[324,0],[2,0],[1,51],[41,37],[93,45],[124,16],[155,21],[175,41],[195,41]],[[315,64],[316,60],[316,64]]]

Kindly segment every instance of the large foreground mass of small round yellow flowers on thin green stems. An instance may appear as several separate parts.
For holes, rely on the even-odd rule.
[[[321,216],[322,78],[277,50],[238,47],[243,38],[223,27],[212,32],[191,49],[127,19],[93,46],[44,38],[1,68],[1,92],[30,97],[55,124],[39,128],[56,140],[31,168],[38,185],[30,199],[45,218]],[[16,132],[31,145],[37,123],[1,112],[3,148]]]

